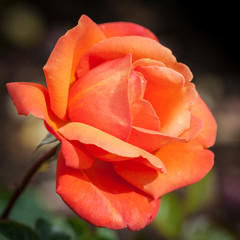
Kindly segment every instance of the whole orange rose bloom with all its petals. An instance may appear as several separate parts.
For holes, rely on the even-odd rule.
[[[83,15],[43,70],[47,88],[7,88],[19,114],[42,119],[61,141],[57,193],[81,218],[139,230],[161,196],[212,168],[215,119],[189,68],[148,29]]]

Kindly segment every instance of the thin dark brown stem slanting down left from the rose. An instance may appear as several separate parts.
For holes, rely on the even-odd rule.
[[[12,197],[10,198],[6,208],[4,209],[2,215],[1,215],[1,220],[7,220],[10,211],[12,210],[14,204],[18,200],[19,196],[21,193],[25,190],[27,187],[28,183],[30,182],[32,176],[37,172],[37,170],[41,167],[41,165],[47,161],[49,158],[51,158],[58,150],[58,146],[55,146],[54,148],[50,149],[48,152],[43,154],[39,159],[37,159],[26,171],[24,174],[20,184],[16,187]]]

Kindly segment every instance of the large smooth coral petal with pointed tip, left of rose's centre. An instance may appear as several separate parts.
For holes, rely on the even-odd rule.
[[[131,128],[128,77],[131,55],[105,62],[80,78],[69,93],[68,114],[120,139]]]

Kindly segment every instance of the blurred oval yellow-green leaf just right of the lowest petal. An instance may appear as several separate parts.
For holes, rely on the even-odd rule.
[[[180,235],[184,212],[182,202],[176,193],[169,193],[162,197],[161,207],[153,222],[153,226],[167,238]]]

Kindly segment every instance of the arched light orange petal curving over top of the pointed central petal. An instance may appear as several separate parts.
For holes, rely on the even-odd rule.
[[[141,58],[151,58],[167,66],[176,64],[171,50],[150,38],[139,36],[107,38],[94,46],[81,59],[78,68],[88,71],[97,65],[115,58],[132,54],[133,62]]]

